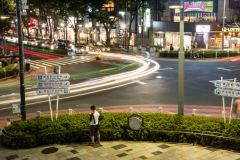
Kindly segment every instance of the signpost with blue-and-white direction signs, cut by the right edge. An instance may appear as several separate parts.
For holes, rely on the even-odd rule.
[[[214,82],[214,86],[217,87],[214,90],[214,94],[218,96],[222,96],[224,123],[226,123],[226,110],[225,110],[224,97],[232,97],[230,119],[229,119],[229,123],[230,123],[232,120],[232,109],[233,109],[234,98],[240,98],[240,83],[236,82],[236,78],[234,78],[234,81],[232,82],[232,81],[223,80],[223,77],[221,77],[221,80],[217,80]]]

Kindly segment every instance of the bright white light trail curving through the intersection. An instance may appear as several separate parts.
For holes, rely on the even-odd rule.
[[[91,53],[94,54],[94,53]],[[96,54],[96,53],[95,53]],[[122,83],[127,84],[132,84],[129,83],[129,81],[135,81],[136,79],[149,75],[151,73],[156,72],[160,66],[159,64],[151,59],[144,58],[141,56],[130,56],[130,55],[123,55],[123,54],[114,54],[114,53],[102,53],[103,56],[111,56],[115,57],[118,59],[125,59],[125,60],[130,60],[133,62],[139,62],[141,64],[141,67],[132,70],[132,71],[127,71],[119,74],[114,74],[114,75],[109,75],[105,77],[101,77],[98,79],[90,80],[87,82],[82,82],[74,85],[70,85],[70,93],[78,93],[78,92],[86,92],[92,89],[98,89],[98,92],[103,91],[103,87],[106,87],[106,89],[112,89],[112,87],[107,87],[107,86],[115,86],[116,87],[121,87]],[[150,67],[150,64],[152,64],[152,67]],[[135,83],[135,82],[134,82]],[[124,85],[124,84],[123,84]],[[95,92],[94,92],[95,93]],[[82,93],[83,94],[83,93]],[[41,99],[41,98],[47,98],[48,95],[37,95],[36,91],[31,91],[27,92],[26,95],[29,95],[30,97],[26,97],[26,100],[36,100],[36,99]],[[52,95],[55,96],[55,95]],[[68,97],[68,96],[65,96]],[[70,97],[70,96],[69,96]],[[72,97],[72,95],[71,95]],[[61,98],[62,99],[62,98]],[[1,101],[1,104],[9,104],[9,103],[16,103],[19,102],[20,99],[12,99],[12,100],[6,100],[6,101]]]

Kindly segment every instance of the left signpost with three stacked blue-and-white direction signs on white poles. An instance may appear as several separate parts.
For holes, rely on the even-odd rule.
[[[56,105],[56,119],[58,117],[58,102],[59,95],[64,95],[70,93],[70,89],[67,88],[70,86],[70,82],[66,81],[70,78],[70,75],[67,73],[60,74],[61,67],[58,66],[58,74],[47,74],[47,69],[45,69],[45,74],[37,75],[37,87],[40,88],[36,92],[38,95],[48,95],[49,108],[51,119],[52,117],[52,105],[50,95],[57,95],[57,105]]]

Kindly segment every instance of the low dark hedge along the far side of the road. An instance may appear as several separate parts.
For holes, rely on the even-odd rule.
[[[162,51],[159,53],[159,57],[178,57],[177,50],[174,51]],[[216,57],[217,52],[217,57]],[[236,51],[202,51],[198,50],[197,53],[201,55],[203,58],[220,58],[220,57],[234,57],[238,56],[238,53]],[[191,51],[185,51],[185,58],[190,58]]]

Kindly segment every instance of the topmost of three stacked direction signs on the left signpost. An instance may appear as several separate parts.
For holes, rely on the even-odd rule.
[[[37,75],[37,80],[48,81],[48,80],[68,80],[70,75],[65,74],[39,74]]]

